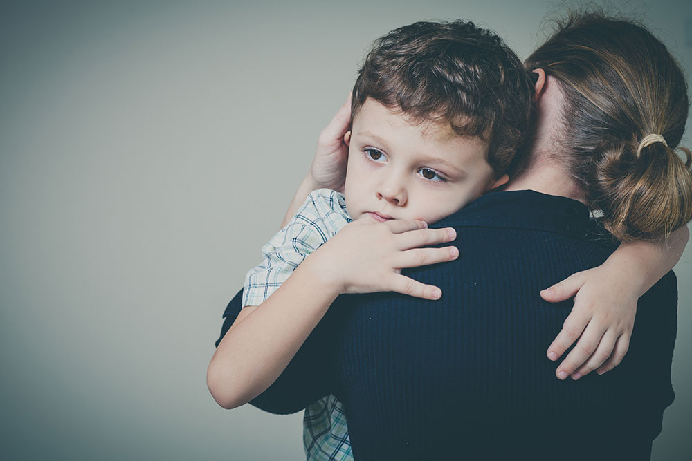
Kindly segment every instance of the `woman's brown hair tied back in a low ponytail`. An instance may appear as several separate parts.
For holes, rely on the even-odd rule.
[[[614,236],[655,238],[692,218],[691,153],[677,147],[687,85],[661,41],[630,21],[573,14],[525,66],[560,82],[558,155]]]

